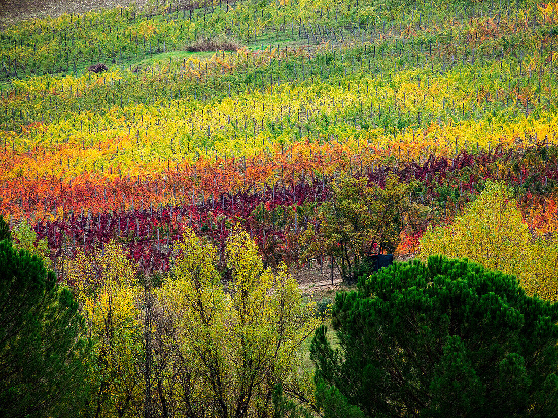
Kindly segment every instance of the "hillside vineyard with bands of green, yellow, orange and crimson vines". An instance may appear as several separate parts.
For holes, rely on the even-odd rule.
[[[239,224],[296,262],[296,237],[347,174],[413,181],[432,223],[488,179],[509,184],[526,216],[546,213],[554,14],[533,2],[259,1],[17,23],[0,33],[0,212],[27,218],[54,260],[117,239],[156,270],[185,227],[222,243]],[[108,71],[88,70],[99,63]],[[404,231],[398,251],[421,233]]]

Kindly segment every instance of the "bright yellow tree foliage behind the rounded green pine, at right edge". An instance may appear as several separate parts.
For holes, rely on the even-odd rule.
[[[489,269],[516,275],[528,295],[558,300],[558,234],[530,231],[511,191],[487,182],[464,215],[447,226],[429,226],[420,240],[420,256],[467,257]]]

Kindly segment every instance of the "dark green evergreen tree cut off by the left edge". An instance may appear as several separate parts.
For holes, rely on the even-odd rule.
[[[39,257],[0,241],[0,416],[73,416],[90,345],[70,291]]]

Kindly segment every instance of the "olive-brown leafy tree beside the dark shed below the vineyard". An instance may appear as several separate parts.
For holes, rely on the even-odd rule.
[[[391,254],[401,232],[420,222],[426,208],[409,200],[412,184],[389,176],[385,186],[368,186],[367,178],[344,177],[330,187],[330,199],[319,208],[317,227],[310,224],[301,237],[303,257],[335,259],[345,281],[356,281],[363,261],[373,250]]]

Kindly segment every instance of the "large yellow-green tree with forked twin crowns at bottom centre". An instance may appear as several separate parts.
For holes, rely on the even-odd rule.
[[[184,379],[177,385],[179,409],[188,416],[271,416],[277,383],[312,404],[311,378],[299,370],[302,342],[318,319],[286,269],[264,269],[244,231],[227,241],[226,288],[213,246],[189,231],[177,250],[175,278],[163,285],[161,297],[177,315]]]

